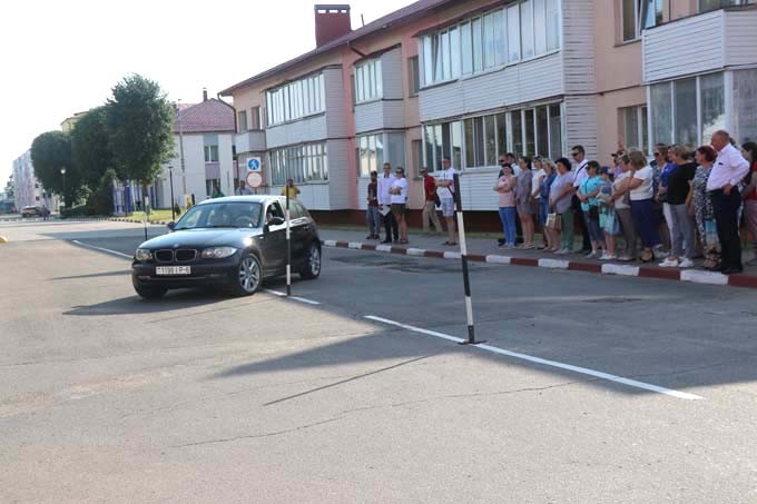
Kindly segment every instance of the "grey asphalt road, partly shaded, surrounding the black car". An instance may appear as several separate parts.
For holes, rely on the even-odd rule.
[[[138,226],[0,234],[0,502],[757,502],[753,290],[474,265],[482,348],[454,261],[150,303]]]

